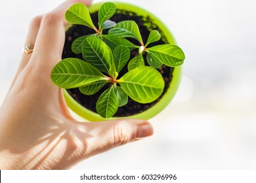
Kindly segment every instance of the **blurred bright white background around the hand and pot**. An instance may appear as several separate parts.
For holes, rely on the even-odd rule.
[[[0,103],[30,20],[62,1],[0,1]],[[181,87],[150,120],[154,136],[73,169],[256,169],[256,1],[119,1],[153,12],[171,29],[186,54]]]

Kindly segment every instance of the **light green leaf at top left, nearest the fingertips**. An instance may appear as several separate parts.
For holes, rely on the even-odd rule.
[[[86,25],[87,27],[96,29],[91,20],[88,8],[82,3],[77,3],[70,7],[66,11],[65,18],[70,24]]]

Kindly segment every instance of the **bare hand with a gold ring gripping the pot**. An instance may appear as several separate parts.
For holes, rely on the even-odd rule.
[[[62,90],[51,81],[61,60],[68,0],[44,16],[33,18],[16,76],[0,108],[0,169],[70,169],[117,146],[153,134],[144,120],[77,122],[68,111]]]

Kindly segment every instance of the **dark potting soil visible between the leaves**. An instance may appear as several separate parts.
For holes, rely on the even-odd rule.
[[[95,12],[91,14],[91,18],[93,20],[93,23],[97,25],[98,21],[98,12]],[[114,22],[121,22],[123,20],[134,20],[138,25],[140,29],[140,33],[143,39],[143,42],[146,42],[148,39],[148,35],[150,34],[150,31],[152,30],[158,30],[161,33],[161,39],[158,42],[153,42],[152,44],[149,44],[148,47],[155,46],[158,44],[165,44],[167,43],[167,39],[163,36],[161,29],[150,20],[150,17],[142,17],[137,16],[135,12],[127,12],[124,10],[116,10],[116,14],[110,20]],[[148,29],[150,27],[150,29]],[[105,31],[105,32],[104,32]],[[103,34],[107,34],[107,30],[104,30]],[[62,59],[64,58],[79,58],[83,59],[83,56],[81,54],[74,54],[71,50],[72,42],[77,39],[77,37],[81,37],[83,35],[89,35],[93,34],[95,31],[93,29],[90,29],[84,25],[73,25],[68,31],[66,31],[66,41],[64,44],[64,50],[62,53]],[[129,39],[129,41],[133,42],[136,45],[139,45],[139,42]],[[131,58],[134,58],[137,56],[138,50],[135,49],[131,52]],[[146,55],[143,55],[144,60],[146,60]],[[130,58],[130,59],[131,59]],[[147,65],[146,61],[145,64]],[[124,116],[131,116],[134,114],[139,114],[140,112],[143,112],[144,110],[147,110],[148,108],[152,107],[158,101],[160,101],[161,97],[167,92],[167,89],[169,88],[169,83],[172,79],[172,73],[174,68],[167,67],[165,65],[162,65],[158,71],[160,71],[161,75],[163,76],[163,79],[165,81],[165,88],[163,90],[162,95],[154,102],[147,103],[147,104],[141,104],[137,103],[136,101],[133,101],[129,98],[127,105],[123,107],[119,107],[114,117],[124,117]],[[123,76],[125,73],[127,73],[127,65],[122,69],[122,71],[119,73],[118,78]],[[78,88],[73,88],[67,90],[68,93],[77,101],[79,104],[81,104],[83,107],[92,110],[93,112],[96,112],[96,101],[98,100],[98,97],[100,97],[101,93],[106,90],[109,86],[106,85],[102,90],[95,93],[95,95],[84,95],[83,93],[79,92]]]

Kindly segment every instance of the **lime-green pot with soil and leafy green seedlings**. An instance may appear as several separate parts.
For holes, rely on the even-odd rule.
[[[68,107],[87,120],[149,119],[174,97],[184,53],[155,16],[126,3],[75,4],[51,73]]]

